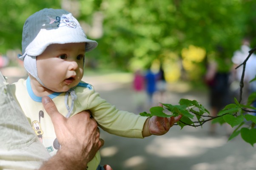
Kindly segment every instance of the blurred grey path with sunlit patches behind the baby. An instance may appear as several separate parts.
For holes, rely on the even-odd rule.
[[[9,83],[25,77],[23,70],[1,70]],[[6,73],[6,74],[5,74]],[[87,76],[83,80],[93,84],[100,96],[118,109],[135,112],[130,74]],[[172,84],[163,103],[177,104],[180,98],[197,100],[208,108],[205,92],[187,91],[187,84]],[[157,97],[155,98],[157,100]],[[155,101],[157,106],[157,101]],[[145,106],[145,111],[149,107]],[[101,164],[114,170],[255,170],[256,149],[236,137],[227,142],[225,125],[218,125],[215,136],[208,134],[209,124],[203,128],[178,126],[164,136],[145,139],[118,137],[101,131],[105,145],[101,149]]]

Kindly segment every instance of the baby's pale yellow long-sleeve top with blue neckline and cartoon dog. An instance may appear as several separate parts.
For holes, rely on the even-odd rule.
[[[37,137],[48,152],[54,155],[60,148],[55,140],[54,126],[41,103],[42,98],[34,95],[29,78],[26,80],[20,79],[18,82],[11,84],[11,90],[26,117],[28,117]],[[143,138],[142,129],[147,117],[127,111],[119,111],[115,106],[100,98],[99,93],[95,92],[94,87],[90,84],[80,82],[74,90],[77,99],[74,100],[74,109],[70,117],[81,111],[90,110],[92,116],[104,131],[122,137]],[[66,116],[68,110],[65,106],[65,92],[55,92],[49,97],[56,104],[58,111]],[[68,106],[71,106],[71,101],[71,96],[68,95]],[[88,163],[88,170],[96,170],[99,163],[100,153],[98,152],[94,159]]]

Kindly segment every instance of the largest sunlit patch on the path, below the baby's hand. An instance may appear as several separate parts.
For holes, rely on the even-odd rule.
[[[182,136],[179,138],[156,137],[146,151],[160,157],[187,157],[201,155],[208,148],[220,147],[227,143],[225,137]]]

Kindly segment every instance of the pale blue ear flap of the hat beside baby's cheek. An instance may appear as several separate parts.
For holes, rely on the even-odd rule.
[[[37,81],[44,87],[46,87],[43,82],[40,80],[37,74],[37,57],[36,56],[28,56],[26,55],[24,58],[24,67],[27,72],[32,75]],[[47,87],[46,87],[47,88]]]

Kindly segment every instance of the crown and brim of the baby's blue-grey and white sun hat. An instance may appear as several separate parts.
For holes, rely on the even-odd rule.
[[[23,26],[22,55],[38,56],[51,44],[85,42],[85,51],[91,51],[98,43],[87,39],[79,22],[63,9],[45,8],[32,14]]]

